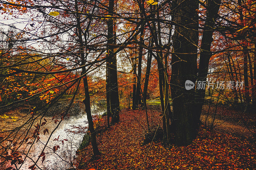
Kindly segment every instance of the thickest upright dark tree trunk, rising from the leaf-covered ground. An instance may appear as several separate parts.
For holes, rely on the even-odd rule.
[[[196,83],[197,45],[198,45],[198,1],[177,0],[174,16],[171,94],[173,123],[176,144],[188,145],[196,137],[197,126],[194,121],[195,90],[185,89],[185,81]],[[174,7],[175,8],[175,7]],[[189,18],[189,19],[188,19]],[[191,18],[191,19],[190,19]],[[186,29],[184,27],[186,27]]]

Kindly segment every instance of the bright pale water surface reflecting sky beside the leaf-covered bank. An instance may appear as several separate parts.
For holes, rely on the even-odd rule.
[[[105,112],[105,108],[98,106],[98,104],[92,104],[91,106],[92,114],[102,115]],[[51,117],[49,117],[51,118]],[[54,123],[53,123],[54,125]],[[88,125],[86,113],[82,110],[77,115],[72,115],[67,119],[63,120],[56,129],[45,148],[45,160],[42,162],[42,157],[39,159],[37,165],[45,170],[63,170],[70,167],[70,162],[73,161],[73,156],[82,142],[84,137],[84,130]],[[49,130],[50,132],[50,130]],[[47,133],[46,133],[47,134]],[[40,135],[40,142],[33,144],[28,156],[33,160],[37,160],[38,156],[41,154],[44,144],[46,144],[50,135]],[[58,138],[58,140],[55,140]],[[65,141],[67,139],[68,141]],[[64,144],[62,144],[62,140]],[[60,148],[53,153],[53,146],[59,145]],[[29,147],[29,146],[27,146]],[[26,159],[24,164],[20,169],[29,170],[28,166],[33,165],[30,159]]]

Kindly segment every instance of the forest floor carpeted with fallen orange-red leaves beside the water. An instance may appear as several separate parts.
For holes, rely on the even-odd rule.
[[[148,109],[150,126],[158,125],[159,115],[158,109]],[[86,170],[139,170],[146,158],[143,169],[148,170],[255,169],[255,141],[248,135],[238,134],[239,130],[235,131],[231,127],[236,129],[238,126],[231,122],[222,123],[212,131],[202,126],[197,138],[188,146],[167,147],[164,141],[155,140],[150,148],[150,143],[143,143],[147,133],[145,110],[123,109],[119,123],[97,134],[97,143],[102,154],[92,159],[92,146],[89,145],[78,152],[76,167]],[[239,125],[239,128],[244,127]]]

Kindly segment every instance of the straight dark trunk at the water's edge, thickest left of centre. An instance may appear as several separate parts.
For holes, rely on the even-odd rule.
[[[109,1],[108,13],[113,16],[114,13],[114,0]],[[108,44],[115,44],[114,38],[114,22],[113,19],[107,20],[108,25]],[[116,55],[114,55],[114,48],[108,50],[109,55],[109,100],[111,110],[111,123],[119,122],[119,96],[118,96],[118,83],[117,83],[117,66],[116,66]]]

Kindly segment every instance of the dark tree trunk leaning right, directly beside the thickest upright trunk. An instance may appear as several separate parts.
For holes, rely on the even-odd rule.
[[[209,61],[212,56],[211,44],[212,44],[212,33],[214,27],[214,20],[217,17],[220,9],[221,0],[207,0],[206,1],[206,21],[201,42],[200,61],[198,68],[198,79],[197,82],[205,82],[208,73]],[[205,88],[196,89],[196,104],[194,107],[195,115],[194,121],[197,125],[200,123],[200,116],[204,105]]]

